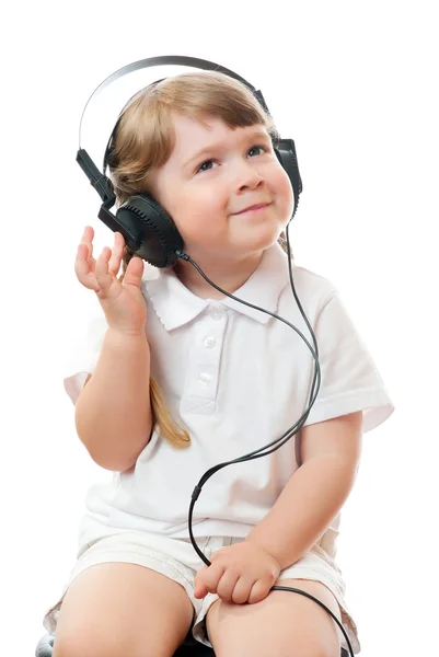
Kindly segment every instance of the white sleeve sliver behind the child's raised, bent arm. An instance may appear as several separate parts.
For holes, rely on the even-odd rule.
[[[84,334],[73,341],[68,348],[63,385],[73,404],[77,403],[86,377],[92,374],[96,367],[107,328],[103,313],[93,316]]]

